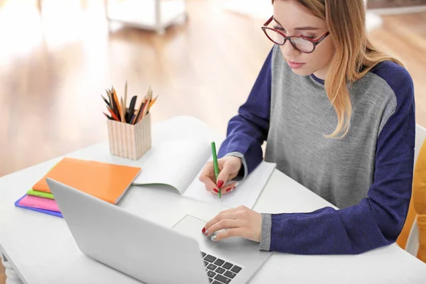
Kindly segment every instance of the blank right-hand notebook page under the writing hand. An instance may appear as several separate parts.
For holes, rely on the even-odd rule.
[[[204,184],[198,179],[201,173],[199,171],[197,177],[192,180],[191,185],[187,188],[183,196],[212,204],[219,204],[228,208],[244,205],[253,209],[263,188],[268,183],[269,178],[271,178],[275,167],[275,163],[263,161],[250,175],[238,182],[236,190],[222,195],[222,200],[219,199],[219,195],[213,195],[211,192],[205,190]]]

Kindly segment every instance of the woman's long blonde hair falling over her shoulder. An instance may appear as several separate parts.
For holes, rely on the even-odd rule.
[[[278,0],[275,0],[278,1]],[[283,0],[280,0],[283,1]],[[400,60],[378,50],[366,34],[364,0],[295,0],[315,16],[322,18],[334,41],[334,56],[329,65],[325,91],[337,114],[337,128],[328,138],[343,138],[349,132],[351,98],[346,84],[364,77],[379,62]],[[272,0],[272,4],[274,0]]]

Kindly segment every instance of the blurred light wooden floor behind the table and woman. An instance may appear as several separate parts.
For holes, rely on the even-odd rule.
[[[220,1],[187,0],[189,21],[163,37],[109,33],[103,1],[45,0],[43,16],[34,1],[0,1],[0,176],[104,141],[100,94],[111,84],[122,92],[126,80],[131,95],[150,85],[159,95],[154,122],[191,115],[225,133],[272,45],[263,21]],[[406,63],[426,126],[426,13],[385,16],[371,37]]]

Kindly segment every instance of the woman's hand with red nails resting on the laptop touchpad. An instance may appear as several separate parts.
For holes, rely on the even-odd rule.
[[[239,206],[220,212],[216,217],[207,222],[202,229],[206,236],[212,235],[215,231],[226,229],[216,236],[212,241],[220,241],[231,236],[240,236],[251,241],[261,241],[262,215],[258,212]]]

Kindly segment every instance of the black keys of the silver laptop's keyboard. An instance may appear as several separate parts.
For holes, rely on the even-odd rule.
[[[241,267],[216,256],[201,252],[204,266],[212,284],[227,284],[241,271]]]

